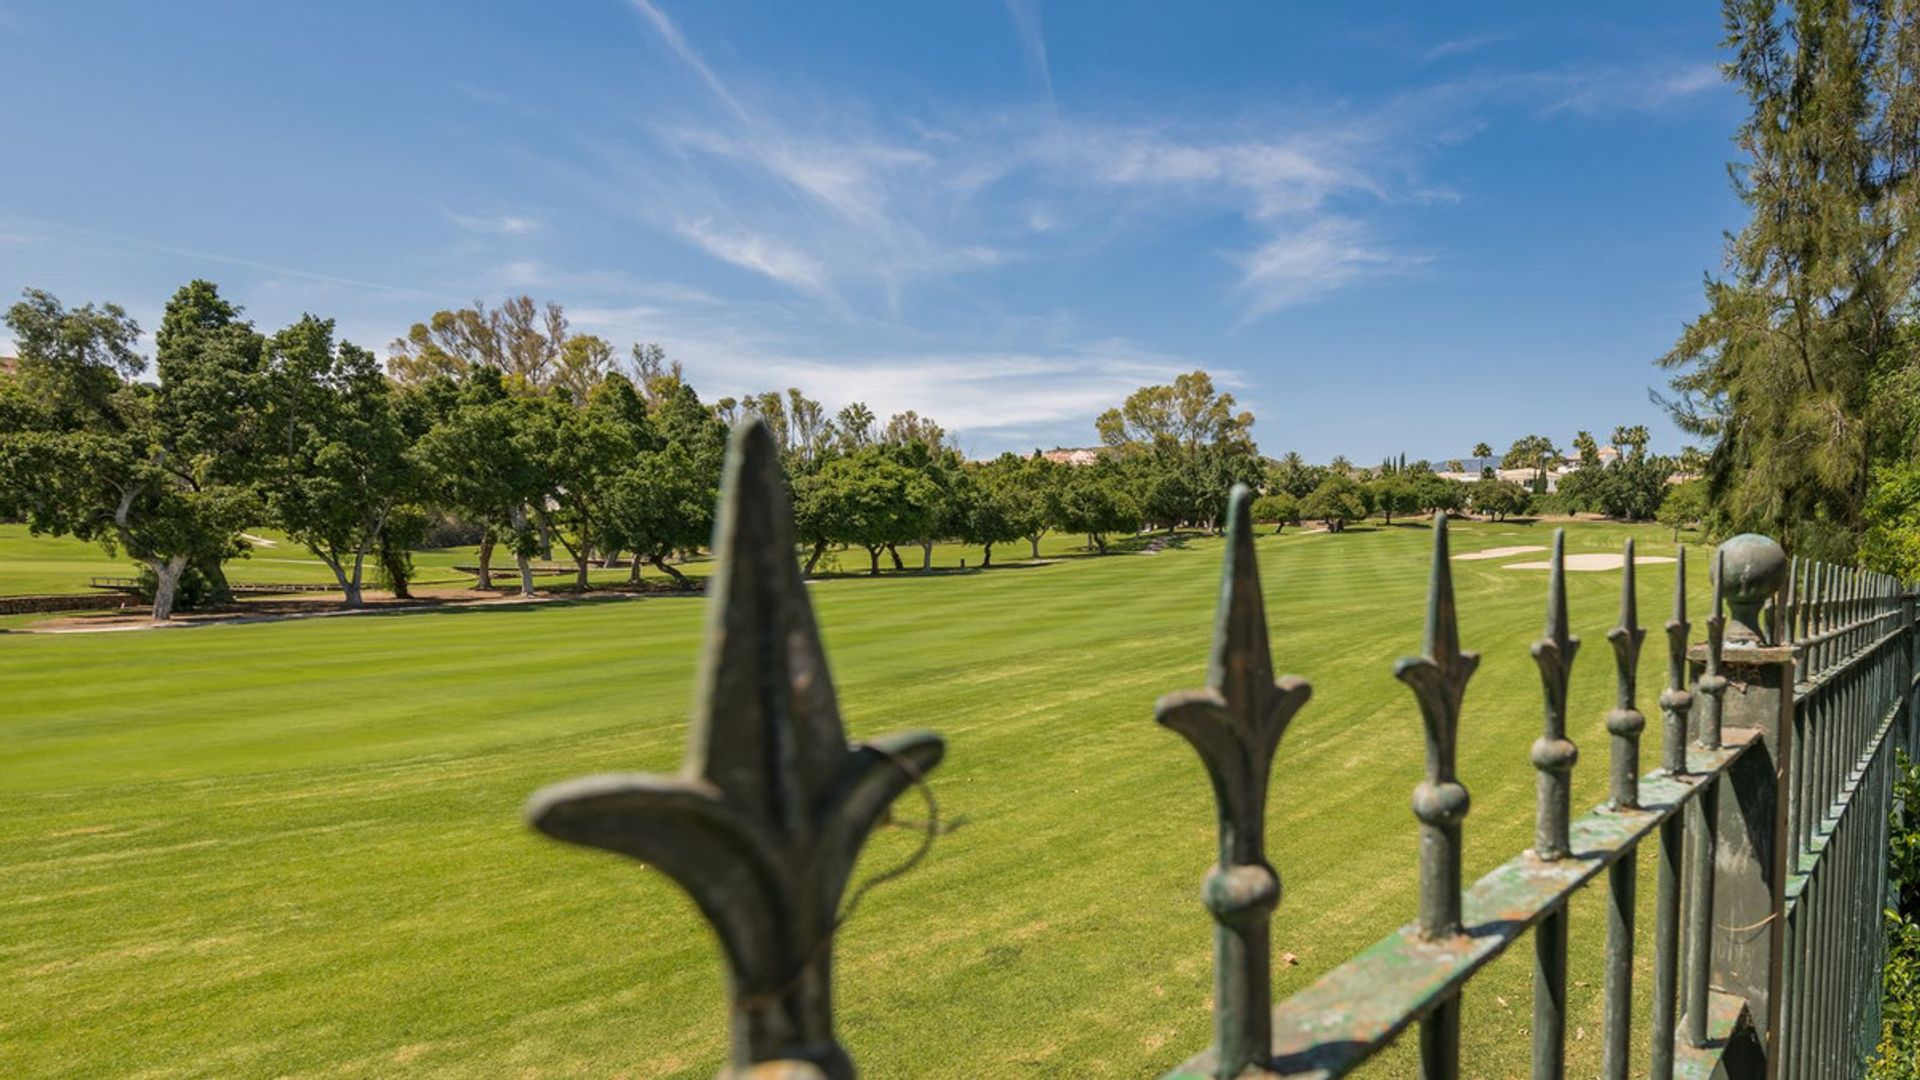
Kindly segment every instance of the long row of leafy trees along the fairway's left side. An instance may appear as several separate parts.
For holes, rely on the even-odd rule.
[[[1098,421],[1094,465],[1039,452],[966,461],[933,419],[828,415],[799,388],[701,402],[653,344],[620,356],[559,304],[438,311],[390,348],[305,315],[257,329],[207,281],[154,334],[115,304],[67,307],[29,288],[6,311],[17,369],[0,377],[0,517],[142,565],[154,615],[223,600],[248,528],[278,528],[324,563],[348,605],[371,578],[407,596],[428,538],[478,544],[532,594],[534,559],[576,582],[626,559],[684,580],[676,555],[712,528],[726,430],[747,413],[780,440],[808,571],[833,548],[904,567],[939,540],[983,550],[1052,530],[1096,552],[1144,525],[1212,527],[1235,482],[1260,482],[1252,415],[1206,373],[1144,386]]]

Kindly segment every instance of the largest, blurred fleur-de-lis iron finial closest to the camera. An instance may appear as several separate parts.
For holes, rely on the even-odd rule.
[[[780,457],[755,419],[728,448],[685,765],[553,784],[526,817],[559,840],[653,863],[693,896],[726,953],[724,1076],[789,1063],[839,1080],[854,1074],[831,995],[847,878],[887,805],[941,753],[931,732],[847,746]]]

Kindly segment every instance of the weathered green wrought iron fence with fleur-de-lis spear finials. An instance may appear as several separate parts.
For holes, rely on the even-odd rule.
[[[1534,945],[1532,1072],[1561,1076],[1571,897],[1605,876],[1603,1074],[1634,1072],[1638,846],[1655,857],[1647,1074],[1853,1076],[1878,1032],[1885,819],[1893,746],[1914,746],[1914,596],[1864,571],[1789,561],[1763,536],[1722,544],[1705,642],[1690,644],[1686,552],[1665,623],[1663,755],[1640,773],[1640,625],[1626,546],[1609,799],[1572,817],[1578,749],[1567,686],[1563,538],[1555,534],[1542,680],[1534,846],[1461,880],[1469,794],[1455,774],[1461,698],[1478,653],[1459,640],[1446,517],[1434,521],[1421,655],[1394,675],[1417,701],[1427,778],[1413,922],[1271,1003],[1269,924],[1281,876],[1263,844],[1267,778],[1309,686],[1275,678],[1250,494],[1236,488],[1208,680],[1156,719],[1213,784],[1219,857],[1202,886],[1213,932],[1213,1045],[1169,1076],[1342,1076],[1417,1028],[1423,1076],[1459,1076],[1459,1001],[1521,938]],[[726,1076],[852,1076],[833,1034],[833,936],[852,863],[897,796],[939,765],[931,732],[847,744],[795,561],[772,438],[730,448],[714,532],[699,707],[678,776],[589,776],[528,805],[540,830],[653,863],[695,899],[730,976]],[[924,853],[924,849],[922,849]],[[918,855],[916,855],[918,857]]]

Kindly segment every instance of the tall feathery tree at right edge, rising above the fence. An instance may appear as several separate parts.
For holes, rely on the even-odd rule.
[[[1728,65],[1749,102],[1728,238],[1707,309],[1661,363],[1674,419],[1711,442],[1716,530],[1853,555],[1876,463],[1914,450],[1920,25],[1891,0],[1728,0]]]

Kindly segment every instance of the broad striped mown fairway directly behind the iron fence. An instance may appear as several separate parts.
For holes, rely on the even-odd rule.
[[[1578,525],[1569,550],[1626,532]],[[1657,527],[1634,534],[1665,550]],[[1455,552],[1548,542],[1455,528]],[[1298,959],[1283,995],[1413,915],[1423,753],[1390,665],[1419,646],[1428,544],[1425,527],[1260,540],[1275,663],[1315,682],[1269,811],[1275,951]],[[1217,573],[1219,542],[1198,540],[812,586],[849,732],[943,732],[931,784],[958,824],[841,932],[839,1030],[866,1074],[1142,1076],[1208,1043],[1212,798],[1152,703],[1202,680]],[[1569,577],[1588,807],[1619,575]],[[1459,753],[1473,880],[1532,836],[1546,575],[1467,561],[1455,580],[1484,651]],[[1642,582],[1655,713],[1672,569]],[[712,1076],[720,963],[687,899],[518,822],[545,782],[678,765],[703,603],[0,636],[0,1074]],[[879,836],[862,874],[910,846]],[[1569,1053],[1590,1074],[1599,896],[1572,942]],[[1649,945],[1644,919],[1642,992]],[[1469,1074],[1524,1074],[1528,963],[1523,944],[1475,980]],[[1409,1061],[1396,1047],[1375,1074]]]

